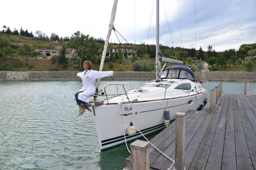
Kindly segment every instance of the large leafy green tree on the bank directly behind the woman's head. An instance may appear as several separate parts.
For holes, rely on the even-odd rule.
[[[100,54],[100,45],[95,42],[93,37],[89,37],[89,34],[84,35],[80,31],[74,33],[74,37],[69,40],[69,47],[74,48],[79,59],[81,71],[83,71],[82,62],[86,60],[92,60],[92,58]]]

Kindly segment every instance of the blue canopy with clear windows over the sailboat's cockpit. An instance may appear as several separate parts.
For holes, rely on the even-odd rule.
[[[185,67],[184,67],[185,66]],[[197,66],[200,67],[200,66]],[[191,81],[196,81],[193,72],[186,65],[182,66],[172,66],[166,68],[161,75],[161,79],[172,78],[172,79],[188,79]]]

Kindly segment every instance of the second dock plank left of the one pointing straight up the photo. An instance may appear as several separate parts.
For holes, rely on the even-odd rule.
[[[225,99],[226,96],[223,95],[189,169],[205,169]]]

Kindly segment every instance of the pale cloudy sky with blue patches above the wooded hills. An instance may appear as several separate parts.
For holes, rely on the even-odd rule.
[[[113,5],[113,0],[0,1],[1,27],[19,30],[22,26],[33,34],[40,30],[59,37],[70,37],[79,30],[103,39]],[[119,0],[115,29],[129,43],[156,44],[155,7],[155,0]],[[211,45],[215,51],[225,51],[256,41],[255,0],[160,0],[159,8],[162,45],[197,50],[201,46],[204,51]],[[121,36],[118,38],[125,42]],[[113,30],[110,42],[119,42]]]

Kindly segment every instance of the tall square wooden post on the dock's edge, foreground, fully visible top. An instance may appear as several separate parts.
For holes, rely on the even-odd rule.
[[[185,113],[175,114],[175,169],[183,170],[185,166]]]

